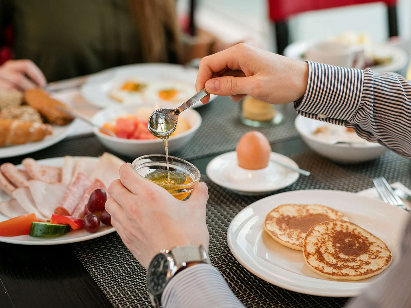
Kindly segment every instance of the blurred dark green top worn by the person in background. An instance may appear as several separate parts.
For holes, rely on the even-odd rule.
[[[127,0],[0,0],[7,23],[14,58],[35,62],[48,81],[141,62]]]

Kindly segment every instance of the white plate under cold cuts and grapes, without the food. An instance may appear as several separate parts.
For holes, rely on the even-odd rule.
[[[95,157],[98,160],[98,157]],[[48,159],[40,159],[37,161],[42,165],[62,167],[64,162],[64,157],[55,157]],[[21,165],[17,166],[21,168]],[[0,201],[9,200],[10,196],[0,189]],[[5,221],[9,218],[0,214],[0,221]],[[84,229],[70,230],[69,233],[58,235],[54,237],[31,237],[30,235],[19,235],[17,237],[2,237],[0,236],[0,242],[12,243],[12,244],[23,244],[23,245],[57,245],[57,244],[68,244],[86,241],[88,239],[94,239],[96,237],[101,237],[103,235],[114,232],[115,229],[111,226],[104,224],[100,225],[100,228],[95,233],[89,233]]]

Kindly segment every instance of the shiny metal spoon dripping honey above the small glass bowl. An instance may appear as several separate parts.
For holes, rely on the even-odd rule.
[[[220,77],[236,76],[239,72],[240,70],[238,69],[230,69]],[[178,108],[161,108],[156,110],[148,119],[148,130],[158,138],[167,138],[171,136],[171,134],[175,131],[175,127],[177,126],[178,115],[208,94],[209,93],[205,91],[205,89],[203,89],[195,94],[192,98],[185,101],[185,103],[182,103]]]

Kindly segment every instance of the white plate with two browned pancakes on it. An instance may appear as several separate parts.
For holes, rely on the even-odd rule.
[[[408,219],[403,209],[355,193],[291,191],[245,207],[227,241],[234,257],[269,283],[352,297],[390,267]]]

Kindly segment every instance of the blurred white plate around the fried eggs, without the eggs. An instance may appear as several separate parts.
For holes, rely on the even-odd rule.
[[[93,106],[105,108],[113,105],[121,104],[115,99],[109,97],[110,90],[118,83],[123,83],[131,78],[141,78],[148,83],[182,82],[192,85],[192,95],[196,94],[195,82],[198,70],[193,67],[184,67],[180,64],[169,63],[143,63],[130,64],[120,67],[106,69],[100,74],[90,77],[87,82],[81,87],[81,94],[85,99],[90,101]],[[210,100],[216,95],[211,95]],[[170,103],[171,108],[178,107],[181,103]],[[156,103],[156,102],[146,102]],[[197,102],[193,105],[194,108],[203,106],[203,103]]]

